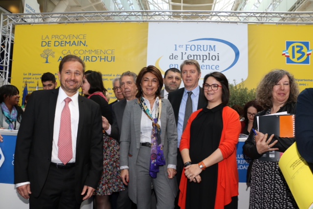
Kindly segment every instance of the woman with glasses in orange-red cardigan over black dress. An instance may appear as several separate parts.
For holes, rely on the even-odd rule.
[[[190,116],[179,146],[184,162],[179,206],[181,209],[237,209],[239,115],[226,106],[229,89],[224,74],[213,72],[203,81],[207,106]]]

